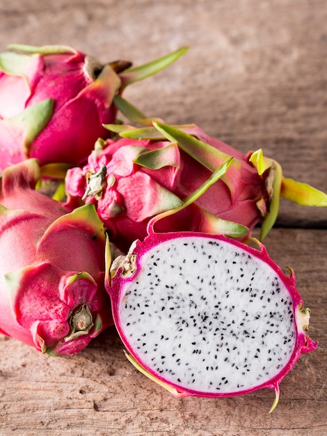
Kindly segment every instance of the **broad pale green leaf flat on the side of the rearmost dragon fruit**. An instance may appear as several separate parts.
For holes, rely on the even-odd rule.
[[[38,137],[49,122],[53,110],[54,100],[47,98],[46,100],[32,104],[13,118],[3,120],[3,123],[12,129],[22,132],[26,156],[29,156],[29,146],[31,143]]]

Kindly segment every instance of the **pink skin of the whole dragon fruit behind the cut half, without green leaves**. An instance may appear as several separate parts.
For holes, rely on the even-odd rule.
[[[199,128],[196,128],[196,132],[205,136]],[[209,137],[206,140],[220,148],[223,157],[231,152],[231,148],[220,141]],[[167,150],[166,157],[169,160],[158,169],[143,166],[143,156],[156,150]],[[266,212],[268,194],[264,179],[257,174],[245,155],[237,150],[233,150],[233,154],[237,155],[238,160],[234,167],[236,171],[229,170],[234,171],[235,176],[231,177],[233,196],[230,195],[230,187],[223,180],[218,180],[200,196],[196,204],[161,220],[158,224],[160,231],[215,233],[215,217],[237,221],[248,228],[255,226]],[[105,175],[102,176],[104,166]],[[65,186],[68,195],[96,205],[99,217],[109,229],[111,240],[126,250],[134,240],[145,238],[151,217],[180,205],[182,199],[202,185],[210,173],[209,169],[180,150],[177,143],[122,138],[115,142],[106,141],[103,150],[96,148],[83,168],[68,170]],[[93,189],[96,174],[98,182]],[[260,210],[257,204],[262,205],[264,210]]]

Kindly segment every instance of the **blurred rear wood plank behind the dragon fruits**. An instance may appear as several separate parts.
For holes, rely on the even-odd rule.
[[[197,123],[244,152],[262,147],[287,177],[325,192],[326,21],[324,0],[0,1],[2,49],[61,42],[141,64],[189,45],[125,95],[148,116]],[[279,222],[326,228],[327,208],[283,203]]]

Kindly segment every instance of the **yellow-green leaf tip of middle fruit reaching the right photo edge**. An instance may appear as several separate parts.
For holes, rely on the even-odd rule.
[[[327,206],[327,194],[291,178],[282,178],[280,196],[303,206]]]

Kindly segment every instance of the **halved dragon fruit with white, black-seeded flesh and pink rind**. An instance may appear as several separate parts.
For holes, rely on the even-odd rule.
[[[115,259],[106,289],[131,363],[178,397],[274,389],[272,411],[281,380],[317,343],[292,270],[258,244],[151,231]]]

